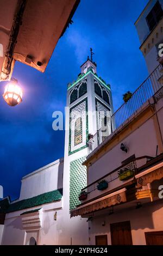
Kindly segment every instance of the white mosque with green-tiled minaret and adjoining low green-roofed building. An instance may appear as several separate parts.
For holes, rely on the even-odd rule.
[[[95,62],[88,57],[80,68],[67,88],[64,159],[24,176],[18,200],[0,201],[2,245],[89,245],[87,220],[70,211],[87,184],[89,137],[104,124],[105,136],[111,133],[112,96]]]

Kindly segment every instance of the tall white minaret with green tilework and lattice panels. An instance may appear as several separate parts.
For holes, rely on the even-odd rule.
[[[86,167],[82,163],[88,155],[89,135],[101,129],[104,119],[111,133],[110,117],[112,96],[110,85],[97,75],[93,52],[82,64],[81,73],[67,88],[67,111],[64,156],[64,205],[62,243],[67,245],[89,244],[88,222],[80,217],[70,218],[70,210],[80,201],[79,193],[87,184]],[[107,117],[107,118],[106,118]]]

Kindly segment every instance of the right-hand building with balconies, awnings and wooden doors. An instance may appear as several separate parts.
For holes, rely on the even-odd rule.
[[[88,218],[90,245],[163,245],[162,4],[135,23],[149,77],[112,115],[114,132],[90,139],[86,196],[71,211]]]

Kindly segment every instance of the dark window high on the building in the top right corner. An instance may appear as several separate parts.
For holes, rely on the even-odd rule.
[[[150,13],[148,14],[148,16],[146,17],[150,31],[152,31],[152,29],[158,24],[162,16],[163,11],[160,2],[157,1],[152,10],[150,11]]]

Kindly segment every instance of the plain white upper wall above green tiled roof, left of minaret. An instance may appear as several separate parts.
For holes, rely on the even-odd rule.
[[[22,179],[20,200],[37,196],[63,186],[64,159],[59,159]]]

